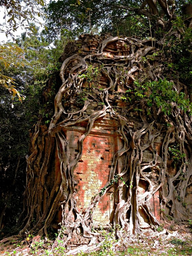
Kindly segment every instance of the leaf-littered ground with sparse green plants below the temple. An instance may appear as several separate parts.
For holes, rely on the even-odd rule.
[[[163,229],[163,228],[162,228]],[[31,235],[32,236],[32,235]],[[31,237],[30,237],[31,239]],[[10,241],[0,245],[1,256],[189,256],[192,255],[192,233],[187,227],[178,230],[144,230],[137,236],[122,237],[118,241],[114,232],[100,231],[96,245],[81,245],[73,249],[63,247],[62,239],[33,237],[31,241]]]

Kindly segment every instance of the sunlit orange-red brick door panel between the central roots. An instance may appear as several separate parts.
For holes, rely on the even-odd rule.
[[[84,132],[84,129],[78,127],[66,132],[72,152],[70,160],[78,154],[78,140]],[[108,182],[115,152],[115,137],[113,132],[93,129],[83,145],[83,155],[74,169],[74,180],[77,192],[76,206],[79,212],[84,214],[92,197]],[[102,197],[95,210],[94,224],[109,223],[110,219],[113,219],[114,207],[114,191],[110,190]]]

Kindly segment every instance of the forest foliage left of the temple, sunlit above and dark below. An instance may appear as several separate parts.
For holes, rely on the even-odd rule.
[[[4,173],[0,176],[0,229],[9,221],[4,234],[13,232],[22,208],[29,130],[40,115],[46,123],[52,116],[50,107],[55,93],[44,92],[46,103],[42,102],[42,93],[48,78],[58,73],[62,45],[56,42],[56,46],[57,49],[49,47],[44,35],[38,32],[30,37],[24,33],[14,44],[1,44],[0,68],[17,86],[12,90],[10,84],[9,88],[2,86],[0,95],[0,172]],[[25,100],[21,102],[15,95],[25,95]]]

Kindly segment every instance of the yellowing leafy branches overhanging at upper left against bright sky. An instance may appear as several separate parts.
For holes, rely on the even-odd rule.
[[[13,36],[20,26],[28,29],[28,32],[37,32],[32,20],[37,22],[36,16],[41,16],[39,6],[44,5],[44,0],[2,0],[0,7],[4,12],[4,22],[0,24],[0,32],[6,36]],[[2,11],[1,10],[1,11]],[[26,64],[24,51],[13,43],[0,44],[0,86],[12,93],[12,99],[17,95],[19,100],[24,99],[16,89],[16,82],[10,75],[6,75],[11,67],[23,67]]]

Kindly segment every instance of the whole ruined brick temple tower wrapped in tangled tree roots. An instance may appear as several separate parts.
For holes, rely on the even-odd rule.
[[[119,237],[190,219],[190,87],[166,40],[85,34],[66,46],[44,92],[53,114],[31,135],[20,235],[62,226],[67,243],[99,226]]]

